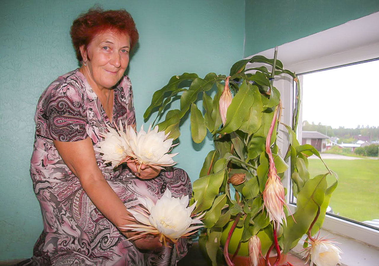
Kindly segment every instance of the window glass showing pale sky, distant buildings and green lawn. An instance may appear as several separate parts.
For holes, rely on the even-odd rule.
[[[313,145],[338,174],[327,212],[379,229],[378,72],[372,60],[301,75],[299,142]],[[316,156],[309,171],[326,173]]]

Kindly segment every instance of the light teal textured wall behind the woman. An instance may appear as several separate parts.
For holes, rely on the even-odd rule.
[[[52,80],[78,66],[69,27],[94,3],[106,9],[125,8],[136,21],[139,47],[128,75],[138,125],[143,122],[152,92],[172,75],[227,74],[231,64],[243,57],[243,0],[2,1],[0,261],[30,257],[42,231],[29,176],[35,106]],[[175,158],[195,180],[211,142],[193,145],[188,120],[182,127],[182,144],[175,149],[180,154]]]

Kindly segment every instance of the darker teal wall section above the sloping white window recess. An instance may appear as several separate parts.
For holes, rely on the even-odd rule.
[[[244,56],[377,11],[378,0],[246,0]]]

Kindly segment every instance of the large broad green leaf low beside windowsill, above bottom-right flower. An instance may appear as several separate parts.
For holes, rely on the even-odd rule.
[[[287,227],[283,228],[283,252],[288,252],[294,242],[297,243],[309,229],[315,219],[318,206],[323,205],[327,189],[326,175],[317,175],[304,183],[303,189],[298,193],[294,220],[287,216]]]

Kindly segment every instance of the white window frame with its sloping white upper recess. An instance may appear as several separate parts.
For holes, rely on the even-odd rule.
[[[378,24],[379,12],[280,45],[278,59],[282,61],[286,69],[304,74],[379,58]],[[354,38],[351,36],[354,36]],[[257,53],[256,55],[273,58],[274,48]],[[248,56],[247,58],[251,58],[252,56]],[[254,67],[254,64],[246,66],[246,68],[251,67]],[[302,77],[299,77],[299,81],[301,83],[302,97]],[[296,97],[293,80],[283,76],[274,81],[274,86],[280,88],[279,91],[282,95],[283,106],[285,108],[281,119],[285,124],[291,125],[291,116]],[[300,100],[302,101],[302,99]],[[302,110],[299,112],[299,121],[302,121]],[[283,150],[284,147],[288,147],[288,133],[285,128],[280,127],[279,134],[282,135],[283,140],[278,145]],[[301,139],[301,135],[301,131],[299,131],[298,139]],[[287,191],[290,191],[291,188],[289,175],[290,173],[287,171],[282,180],[283,186],[288,189]],[[287,193],[286,200],[288,206],[291,211],[295,211],[296,205],[290,203],[290,197],[291,193]],[[355,224],[327,214],[323,229],[337,235],[356,239],[376,248],[379,247],[379,230],[364,225]]]

